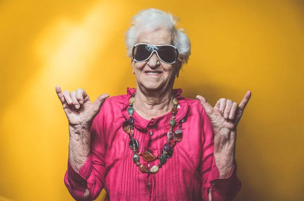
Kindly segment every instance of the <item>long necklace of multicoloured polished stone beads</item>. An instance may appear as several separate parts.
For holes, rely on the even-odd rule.
[[[133,118],[133,113],[134,113],[134,108],[133,108],[133,103],[134,103],[134,98],[135,93],[131,96],[129,100],[129,108],[128,108],[128,113],[130,118],[123,123],[123,129],[124,131],[129,135],[130,142],[129,146],[131,150],[133,151],[133,162],[139,167],[140,172],[142,173],[157,173],[159,171],[159,168],[161,168],[167,161],[167,158],[170,158],[173,154],[173,147],[176,145],[176,142],[181,141],[182,139],[182,130],[181,130],[181,125],[186,121],[186,118],[182,118],[179,121],[179,128],[173,132],[173,128],[176,126],[175,122],[175,115],[177,114],[177,106],[178,106],[178,101],[175,96],[173,96],[173,108],[171,109],[172,113],[172,118],[170,119],[170,130],[167,133],[167,143],[164,144],[164,149],[162,152],[162,155],[160,156],[154,156],[152,153],[149,151],[145,151],[144,153],[139,152],[139,143],[138,141],[134,138],[134,118]],[[174,142],[171,144],[171,139],[174,139]],[[145,165],[142,165],[139,163],[139,156],[142,156],[143,160],[145,162],[153,162],[156,159],[160,160],[160,163],[158,166],[153,166],[150,169],[149,165],[146,167]]]

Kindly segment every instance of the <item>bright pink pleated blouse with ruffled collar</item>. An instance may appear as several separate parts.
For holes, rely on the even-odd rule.
[[[156,174],[140,172],[133,162],[130,138],[123,130],[129,118],[131,94],[110,97],[102,105],[91,128],[91,153],[80,169],[75,171],[68,162],[64,183],[76,200],[84,200],[83,193],[89,189],[91,199],[96,199],[104,188],[105,200],[205,200],[211,191],[212,201],[233,200],[241,188],[236,165],[231,175],[219,179],[219,171],[213,158],[213,128],[198,100],[181,97],[181,89],[174,90],[179,107],[175,131],[181,118],[183,138],[173,148],[173,155]],[[136,111],[133,114],[134,138],[139,142],[139,151],[149,150],[160,156],[167,141],[171,112],[146,120]],[[140,163],[152,167],[159,164]]]

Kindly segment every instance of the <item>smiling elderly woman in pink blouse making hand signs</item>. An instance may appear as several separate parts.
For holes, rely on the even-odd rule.
[[[148,9],[127,31],[137,89],[91,102],[83,89],[56,92],[69,122],[64,182],[73,198],[106,200],[233,200],[236,127],[251,93],[238,105],[219,99],[212,107],[173,89],[190,55],[176,19]]]

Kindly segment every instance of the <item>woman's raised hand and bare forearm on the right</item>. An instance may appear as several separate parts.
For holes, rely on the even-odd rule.
[[[227,177],[233,168],[236,129],[250,97],[251,92],[248,91],[240,105],[232,100],[221,98],[212,107],[204,97],[197,96],[213,126],[214,159],[220,177]]]

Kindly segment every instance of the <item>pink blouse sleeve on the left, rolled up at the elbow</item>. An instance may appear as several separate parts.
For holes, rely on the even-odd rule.
[[[105,104],[105,103],[104,103]],[[91,133],[91,152],[79,172],[73,169],[70,162],[64,176],[64,183],[75,200],[84,200],[84,191],[90,192],[90,199],[94,200],[100,194],[105,181],[105,143],[104,143],[104,104],[93,120]]]

